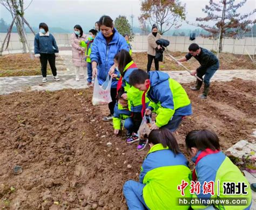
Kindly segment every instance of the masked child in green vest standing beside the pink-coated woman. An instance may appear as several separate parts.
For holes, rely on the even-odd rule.
[[[95,29],[91,29],[89,31],[89,37],[87,41],[81,41],[80,45],[85,48],[85,60],[87,62],[87,86],[92,85],[92,64],[91,64],[91,59],[90,59],[90,54],[91,54],[91,47],[94,38],[97,35],[97,31]]]

